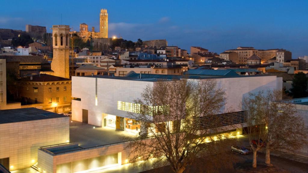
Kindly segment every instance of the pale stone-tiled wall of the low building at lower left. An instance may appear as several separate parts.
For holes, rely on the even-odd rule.
[[[0,124],[0,159],[9,158],[10,171],[31,167],[39,147],[69,138],[69,117]]]

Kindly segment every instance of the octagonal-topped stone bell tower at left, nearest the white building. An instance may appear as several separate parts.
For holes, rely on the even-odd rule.
[[[52,26],[53,58],[51,70],[53,75],[70,78],[70,26]]]

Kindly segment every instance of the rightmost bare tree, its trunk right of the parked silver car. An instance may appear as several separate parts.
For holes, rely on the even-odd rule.
[[[271,150],[295,151],[308,143],[308,129],[304,120],[296,114],[296,107],[290,100],[282,100],[282,91],[269,92],[265,102],[266,155],[265,163],[270,163]]]

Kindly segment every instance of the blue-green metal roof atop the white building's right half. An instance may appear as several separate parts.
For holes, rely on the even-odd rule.
[[[185,71],[184,74],[188,75],[205,75],[205,76],[238,76],[233,70],[208,70],[198,68]]]

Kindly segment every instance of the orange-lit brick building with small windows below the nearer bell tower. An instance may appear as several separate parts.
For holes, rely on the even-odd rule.
[[[55,113],[71,111],[71,79],[39,74],[19,81],[23,107]]]

